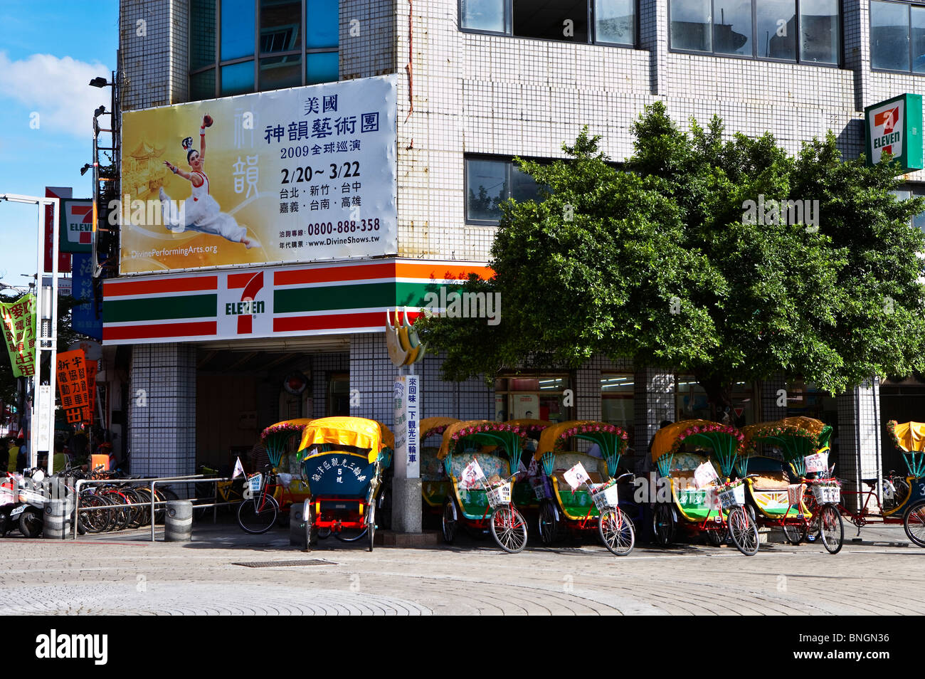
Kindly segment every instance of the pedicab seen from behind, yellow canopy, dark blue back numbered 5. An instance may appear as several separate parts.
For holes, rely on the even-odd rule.
[[[299,449],[309,491],[303,510],[306,549],[329,530],[345,541],[366,536],[373,550],[385,458],[380,427],[363,417],[322,417],[305,426]]]

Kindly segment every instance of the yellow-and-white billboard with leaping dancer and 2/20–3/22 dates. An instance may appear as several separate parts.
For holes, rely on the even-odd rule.
[[[120,273],[397,253],[395,86],[378,76],[125,112]]]

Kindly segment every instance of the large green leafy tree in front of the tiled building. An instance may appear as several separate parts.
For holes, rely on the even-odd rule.
[[[418,322],[444,377],[601,352],[693,374],[724,408],[737,381],[834,393],[921,369],[925,237],[909,221],[925,201],[894,198],[893,167],[843,160],[831,132],[796,156],[770,134],[723,140],[718,117],[685,132],[660,103],[633,134],[622,169],[587,130],[570,160],[518,160],[540,201],[504,205],[495,276],[464,286],[500,293],[500,324]]]

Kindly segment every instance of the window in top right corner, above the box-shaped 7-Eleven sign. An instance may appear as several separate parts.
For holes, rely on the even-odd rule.
[[[925,5],[870,3],[870,68],[925,73]]]

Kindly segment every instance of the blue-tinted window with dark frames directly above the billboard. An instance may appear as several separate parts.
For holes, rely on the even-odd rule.
[[[339,0],[191,0],[190,99],[331,82]]]

